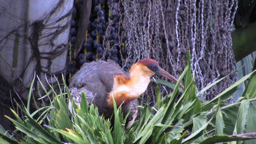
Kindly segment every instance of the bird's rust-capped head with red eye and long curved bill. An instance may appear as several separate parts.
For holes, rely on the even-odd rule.
[[[159,66],[158,62],[156,62],[156,60],[146,58],[146,59],[142,59],[142,60],[136,62],[134,65],[139,67],[140,70],[142,70],[142,72],[149,77],[152,77],[155,74],[159,74],[161,76],[164,76],[164,77],[172,80],[175,84],[178,82],[178,80],[176,78],[174,78],[174,76],[172,76],[171,74],[166,72],[164,69],[162,69]],[[131,68],[131,70],[132,70],[132,68]],[[182,84],[180,84],[180,87],[182,89],[184,89],[184,86]]]

